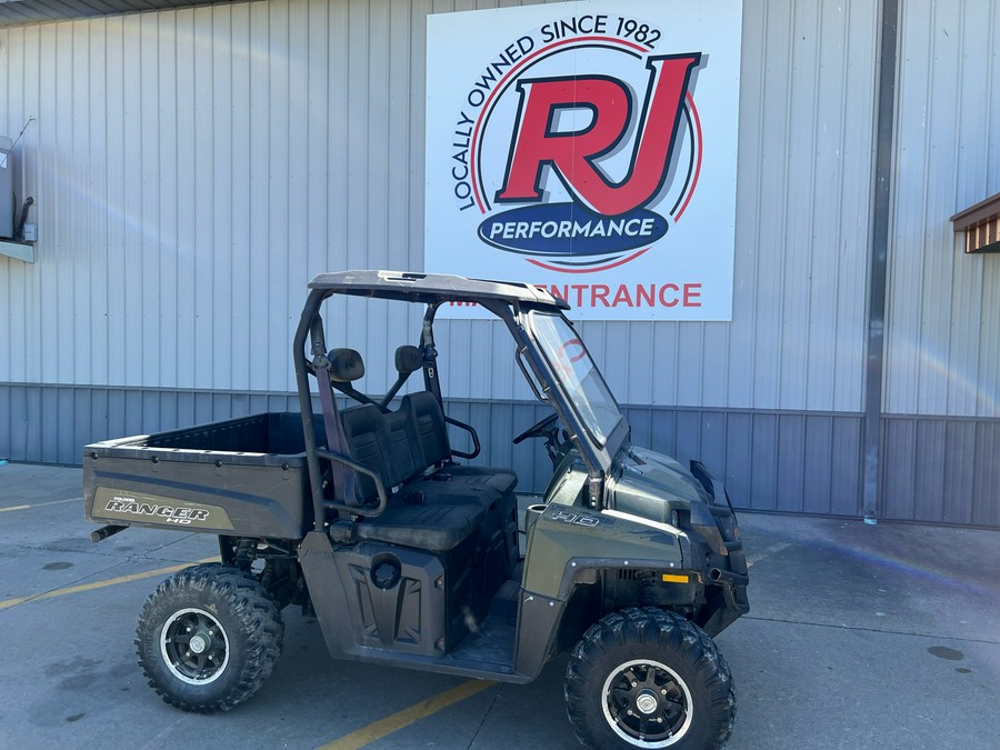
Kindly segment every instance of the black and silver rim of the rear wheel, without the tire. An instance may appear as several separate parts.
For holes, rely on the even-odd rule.
[[[160,630],[160,654],[170,673],[181,682],[209,684],[229,664],[229,637],[210,612],[178,610]]]

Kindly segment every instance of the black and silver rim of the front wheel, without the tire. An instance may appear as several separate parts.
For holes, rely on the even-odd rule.
[[[660,661],[634,659],[604,680],[601,710],[611,730],[640,748],[667,748],[691,728],[691,691]]]

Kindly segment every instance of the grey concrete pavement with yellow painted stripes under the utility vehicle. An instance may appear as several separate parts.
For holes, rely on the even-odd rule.
[[[177,711],[136,666],[136,618],[164,571],[216,554],[214,538],[130,529],[93,544],[79,498],[79,469],[0,466],[2,747],[359,747],[351,733],[374,726],[389,731],[372,748],[579,747],[564,658],[531,684],[403,721],[467,681],[334,661],[294,608],[257,697],[221,716]],[[1000,747],[1000,532],[740,522],[751,613],[717,638],[737,686],[730,748]]]

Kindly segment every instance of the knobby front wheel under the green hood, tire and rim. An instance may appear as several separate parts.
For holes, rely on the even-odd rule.
[[[577,737],[593,748],[722,748],[736,716],[712,639],[652,608],[591,626],[567,667],[566,701]]]

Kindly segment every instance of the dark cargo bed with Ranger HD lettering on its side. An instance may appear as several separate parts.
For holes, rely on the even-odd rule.
[[[316,440],[326,442],[319,433]],[[299,413],[253,414],[83,449],[90,521],[301,539],[312,527],[309,498]]]

